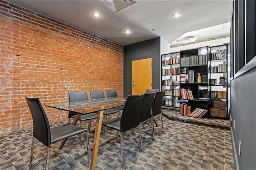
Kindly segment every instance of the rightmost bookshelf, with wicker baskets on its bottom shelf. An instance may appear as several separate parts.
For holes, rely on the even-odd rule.
[[[210,57],[209,57],[209,100],[210,100],[210,117],[216,118],[228,118],[228,91],[230,87],[228,85],[228,75],[227,75],[227,54],[228,54],[228,44],[217,45],[210,47]],[[218,99],[218,100],[216,100]],[[213,114],[212,109],[216,111],[214,106],[214,101],[221,101],[224,105],[221,105],[224,110],[219,110],[223,115]],[[212,112],[212,114],[211,114]]]

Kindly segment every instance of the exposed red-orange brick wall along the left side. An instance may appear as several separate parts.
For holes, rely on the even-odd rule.
[[[32,127],[26,97],[42,105],[68,91],[123,93],[123,46],[0,1],[0,133]],[[88,96],[89,93],[88,93]],[[44,106],[49,121],[67,112]]]

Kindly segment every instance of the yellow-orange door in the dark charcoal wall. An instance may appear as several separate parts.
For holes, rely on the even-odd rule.
[[[152,89],[152,58],[132,61],[132,94],[140,95]]]

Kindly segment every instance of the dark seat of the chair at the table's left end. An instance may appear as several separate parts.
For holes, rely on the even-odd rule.
[[[58,142],[76,134],[86,132],[87,129],[77,127],[71,123],[66,123],[59,127],[51,128],[51,143]]]

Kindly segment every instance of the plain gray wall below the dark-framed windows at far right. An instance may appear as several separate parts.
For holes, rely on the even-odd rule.
[[[256,65],[256,64],[254,64]],[[231,81],[230,107],[237,169],[256,169],[256,67]],[[234,127],[235,121],[235,127]],[[241,141],[241,156],[239,156]],[[239,165],[238,165],[239,164]]]

